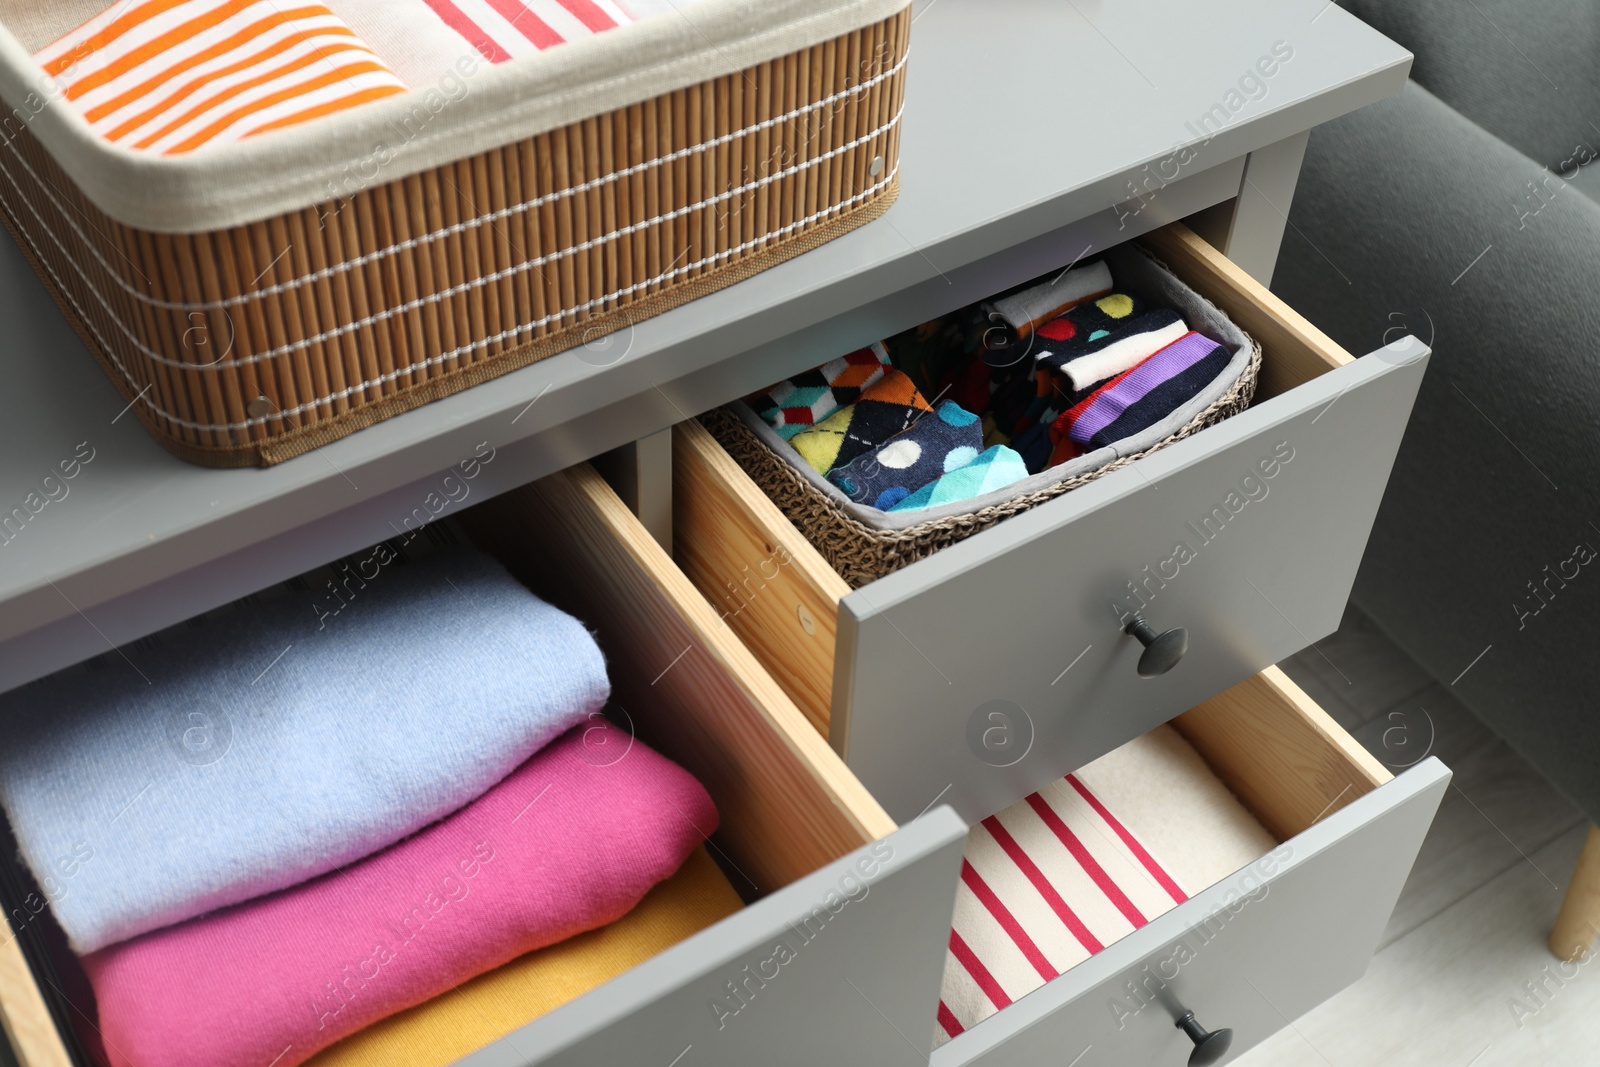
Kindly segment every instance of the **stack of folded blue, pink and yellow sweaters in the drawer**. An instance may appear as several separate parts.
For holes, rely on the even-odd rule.
[[[446,1064],[739,907],[706,790],[494,560],[274,593],[0,697],[0,805],[102,1062]]]

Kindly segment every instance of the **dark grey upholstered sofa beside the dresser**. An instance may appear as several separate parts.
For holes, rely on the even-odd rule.
[[[1352,350],[1435,349],[1354,600],[1600,819],[1600,5],[1346,6],[1413,82],[1312,133],[1272,288]]]

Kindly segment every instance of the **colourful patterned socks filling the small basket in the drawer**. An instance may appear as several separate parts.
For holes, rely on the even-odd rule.
[[[1094,261],[779,382],[747,405],[850,501],[904,514],[1139,438],[1234,360],[1178,310],[1120,290],[1107,262]]]

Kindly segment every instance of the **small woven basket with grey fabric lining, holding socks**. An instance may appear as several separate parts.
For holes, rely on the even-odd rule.
[[[798,469],[802,461],[792,450],[789,450],[789,456],[779,454],[779,450],[786,446],[778,442],[774,448],[773,443],[763,440],[763,434],[752,429],[752,422],[758,422],[758,418],[749,413],[749,410],[741,416],[733,408],[718,408],[706,413],[699,421],[728,450],[734,462],[750,475],[750,480],[771,498],[778,510],[850,582],[851,589],[859,589],[890,571],[898,571],[907,563],[926,558],[963,537],[989,530],[1003,518],[1010,518],[1062,493],[1088,485],[1112,470],[1126,467],[1141,456],[1149,456],[1154,451],[1166,448],[1173,442],[1214,426],[1250,406],[1256,397],[1256,381],[1261,374],[1261,344],[1238,330],[1237,325],[1227,322],[1221,310],[1178,282],[1160,262],[1138,256],[1131,250],[1118,250],[1118,254],[1122,254],[1125,267],[1139,264],[1142,270],[1152,275],[1165,275],[1163,285],[1173,286],[1171,294],[1178,298],[1174,304],[1184,310],[1190,325],[1198,322],[1205,323],[1210,333],[1226,333],[1230,338],[1232,347],[1238,352],[1235,357],[1238,370],[1232,381],[1214,390],[1210,403],[1203,397],[1197,398],[1190,405],[1187,419],[1182,418],[1184,410],[1179,408],[1171,419],[1174,424],[1166,427],[1166,432],[1158,440],[1144,443],[1144,446],[1126,454],[1122,454],[1115,446],[1102,450],[1117,454],[1093,469],[1075,472],[1070,467],[1059,467],[1058,470],[1061,470],[1062,477],[1053,483],[1045,475],[1035,475],[1018,485],[1014,496],[1005,496],[1005,491],[1002,491],[990,494],[997,499],[984,498],[974,501],[974,509],[970,512],[960,512],[958,506],[947,506],[946,510],[957,510],[960,514],[941,514],[926,522],[910,520],[898,528],[885,530],[862,522],[859,515],[851,514],[853,509],[858,512],[866,512],[866,509],[845,502],[846,498],[843,494],[830,494],[821,490],[818,478],[811,478]],[[1120,272],[1118,277],[1122,277]],[[1198,330],[1200,326],[1195,328]],[[1157,434],[1160,434],[1160,429]],[[1042,482],[1048,485],[1040,485]]]

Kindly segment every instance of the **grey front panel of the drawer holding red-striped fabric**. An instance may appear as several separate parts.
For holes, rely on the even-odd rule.
[[[1186,1011],[1229,1062],[1355,982],[1450,771],[1427,760],[939,1048],[931,1067],[1182,1067]],[[1074,1059],[1078,1057],[1078,1059]]]

